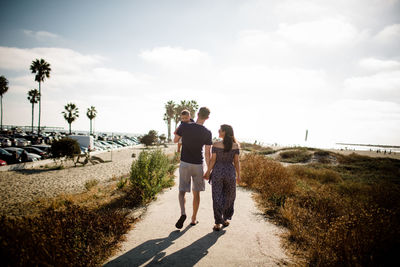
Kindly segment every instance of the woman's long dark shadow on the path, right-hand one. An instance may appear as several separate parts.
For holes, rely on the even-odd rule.
[[[163,257],[165,252],[159,253],[146,266],[194,266],[203,257],[207,256],[208,249],[211,248],[225,231],[211,232],[196,240],[191,245],[178,250],[171,255]]]

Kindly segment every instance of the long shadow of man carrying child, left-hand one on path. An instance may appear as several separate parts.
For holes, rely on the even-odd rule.
[[[126,252],[124,255],[108,262],[104,266],[140,266],[153,257],[159,258],[158,255],[162,254],[161,251],[174,244],[173,241],[181,237],[190,227],[191,226],[188,225],[183,231],[172,231],[164,238],[148,240]]]

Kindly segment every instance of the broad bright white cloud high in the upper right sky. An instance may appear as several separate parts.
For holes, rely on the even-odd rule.
[[[277,32],[287,40],[312,46],[355,44],[361,37],[356,27],[342,18],[281,24]]]

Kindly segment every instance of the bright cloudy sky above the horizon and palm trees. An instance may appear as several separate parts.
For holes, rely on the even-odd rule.
[[[196,100],[213,136],[400,145],[400,0],[3,0],[0,36],[6,125],[31,125],[43,58],[44,126],[75,103],[73,130],[95,106],[95,131],[167,134],[165,104]]]

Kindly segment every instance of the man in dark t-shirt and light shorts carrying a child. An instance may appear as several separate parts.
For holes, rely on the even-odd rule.
[[[203,146],[205,146],[205,161],[207,167],[211,158],[212,136],[211,132],[203,126],[208,119],[210,110],[202,107],[197,114],[196,123],[182,123],[176,130],[174,142],[178,143],[182,138],[181,163],[179,166],[179,205],[181,217],[175,224],[176,228],[181,229],[186,220],[185,194],[190,192],[191,182],[193,181],[193,215],[191,225],[196,225],[197,211],[200,205],[200,192],[205,190],[203,179]]]

